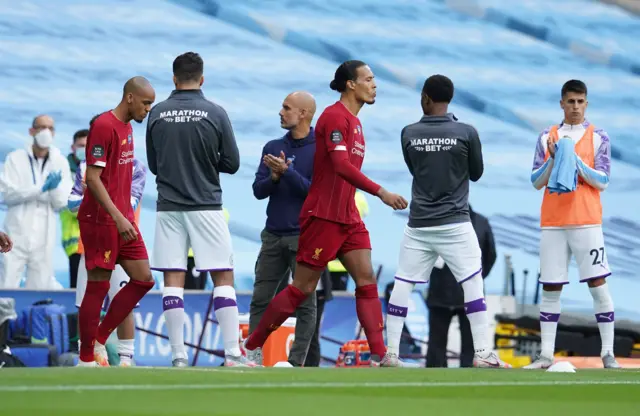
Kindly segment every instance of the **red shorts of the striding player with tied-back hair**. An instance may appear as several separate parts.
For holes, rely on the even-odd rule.
[[[317,217],[300,223],[296,261],[323,270],[330,261],[353,250],[371,250],[369,231],[363,222],[341,224]]]

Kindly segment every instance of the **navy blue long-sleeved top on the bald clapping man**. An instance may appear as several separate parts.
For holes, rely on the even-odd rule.
[[[253,181],[253,195],[257,199],[269,198],[268,232],[278,236],[300,234],[300,210],[311,184],[315,144],[312,128],[304,139],[295,140],[291,133],[287,133],[281,139],[271,140],[262,149],[260,165]],[[285,158],[292,162],[280,180],[274,182],[271,180],[271,170],[262,158],[267,154],[279,157],[280,152],[284,152]]]

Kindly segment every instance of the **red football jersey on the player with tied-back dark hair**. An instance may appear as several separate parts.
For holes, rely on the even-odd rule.
[[[354,199],[356,188],[336,174],[330,153],[348,152],[349,163],[358,170],[362,168],[365,143],[360,120],[338,101],[324,110],[315,130],[313,178],[300,216],[359,223],[362,219]]]

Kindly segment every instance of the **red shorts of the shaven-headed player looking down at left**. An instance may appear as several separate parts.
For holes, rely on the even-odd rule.
[[[125,241],[115,225],[80,222],[80,238],[84,245],[87,270],[114,270],[120,260],[148,260],[147,247],[136,224],[138,239]]]

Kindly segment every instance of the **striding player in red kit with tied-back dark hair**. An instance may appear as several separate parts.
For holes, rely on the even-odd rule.
[[[244,343],[249,359],[262,353],[271,332],[314,293],[327,264],[340,258],[356,282],[356,310],[371,348],[373,366],[402,365],[388,356],[383,340],[383,316],[371,264],[371,242],[355,204],[356,188],[378,196],[395,210],[407,201],[367,178],[361,171],[365,154],[357,115],[376,97],[374,75],[362,61],[346,61],[330,85],[340,100],[327,107],[316,124],[316,153],[309,194],[300,214],[300,240],[293,283],[269,304],[256,330]]]

